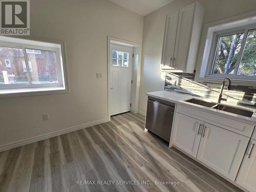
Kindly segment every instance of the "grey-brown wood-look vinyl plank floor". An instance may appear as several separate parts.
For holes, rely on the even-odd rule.
[[[0,191],[241,191],[183,155],[132,113],[0,153]],[[151,184],[77,184],[149,181]],[[179,181],[156,185],[155,181]]]

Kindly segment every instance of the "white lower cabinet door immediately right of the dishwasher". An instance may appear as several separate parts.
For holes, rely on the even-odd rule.
[[[196,157],[204,122],[176,113],[172,144],[187,154]]]

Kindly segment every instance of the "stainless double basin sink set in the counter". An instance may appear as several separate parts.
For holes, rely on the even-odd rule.
[[[212,109],[229,112],[229,113],[232,113],[232,114],[242,115],[242,116],[245,116],[245,117],[252,117],[252,115],[254,113],[253,111],[234,108],[232,106],[222,105],[222,104],[214,103],[214,102],[208,102],[208,101],[195,99],[195,98],[188,99],[188,100],[185,100],[185,101],[190,102],[190,103],[194,103],[194,104],[198,104],[198,105],[202,105],[202,106],[206,106],[206,107],[212,108]]]

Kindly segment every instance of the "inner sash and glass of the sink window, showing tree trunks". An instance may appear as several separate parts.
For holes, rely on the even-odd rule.
[[[217,34],[213,48],[208,76],[256,79],[256,29]]]

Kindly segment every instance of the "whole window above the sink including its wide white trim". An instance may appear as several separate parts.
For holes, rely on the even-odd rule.
[[[229,77],[234,84],[255,85],[255,13],[205,25],[200,49],[196,81],[218,83]]]

